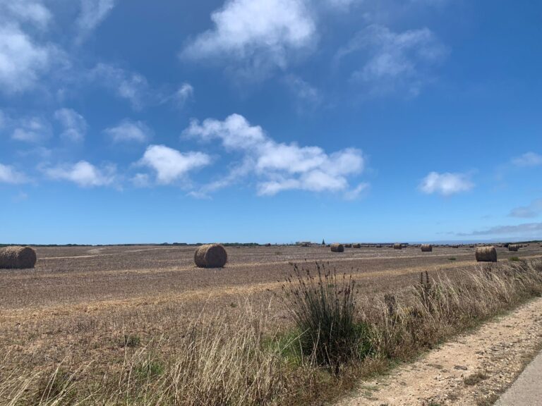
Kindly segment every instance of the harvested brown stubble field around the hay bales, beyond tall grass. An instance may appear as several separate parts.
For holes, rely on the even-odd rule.
[[[497,248],[499,262],[507,258],[541,257],[530,245],[519,252]],[[409,288],[421,271],[430,276],[459,275],[474,269],[474,248],[419,247],[402,250],[361,247],[340,256],[329,247],[227,247],[223,269],[199,269],[195,247],[38,247],[35,269],[0,270],[0,354],[3,373],[54,369],[68,371],[94,362],[101,376],[123,364],[126,338],[152,346],[167,337],[162,353],[174,352],[191,322],[223,314],[241,316],[244,302],[265,309],[267,331],[289,328],[284,305],[276,298],[293,263],[323,262],[337,273],[352,271],[356,295],[383,298]],[[450,256],[456,259],[450,261]],[[171,343],[171,344],[169,344]],[[128,346],[129,347],[129,346]],[[164,355],[164,354],[162,354]],[[4,402],[0,392],[0,402]]]

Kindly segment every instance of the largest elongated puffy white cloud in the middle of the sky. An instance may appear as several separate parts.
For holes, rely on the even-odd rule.
[[[251,125],[239,114],[232,114],[224,121],[192,121],[184,134],[204,141],[219,139],[228,151],[243,152],[243,164],[231,171],[225,178],[225,184],[233,183],[236,177],[254,173],[259,179],[259,195],[275,195],[295,189],[347,192],[347,176],[361,173],[364,166],[359,149],[349,148],[327,154],[320,147],[275,142],[265,135],[263,128]],[[215,184],[222,185],[220,181]]]

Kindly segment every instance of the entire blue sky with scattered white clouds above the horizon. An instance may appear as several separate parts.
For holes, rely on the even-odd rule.
[[[0,0],[0,241],[542,238],[541,20]]]

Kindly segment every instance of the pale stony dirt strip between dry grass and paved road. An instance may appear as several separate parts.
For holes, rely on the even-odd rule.
[[[542,347],[542,298],[387,376],[359,383],[337,406],[493,405]]]

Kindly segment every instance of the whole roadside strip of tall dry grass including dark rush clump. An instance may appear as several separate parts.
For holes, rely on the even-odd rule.
[[[203,316],[181,338],[124,346],[124,360],[88,359],[52,371],[0,365],[2,405],[291,405],[314,402],[351,378],[407,359],[542,292],[542,262],[483,264],[459,278],[423,273],[406,291],[354,299],[349,276],[297,269],[287,283],[289,326],[270,333],[265,309]],[[356,326],[363,325],[359,329]],[[294,326],[297,329],[294,330]],[[131,340],[137,343],[138,340]],[[363,345],[360,345],[363,343]],[[367,345],[371,348],[367,350]],[[290,351],[301,347],[301,352]],[[303,349],[304,348],[304,349]],[[291,356],[299,355],[298,359]],[[15,357],[8,353],[6,357]],[[337,368],[337,365],[341,368]],[[97,368],[101,366],[101,368]],[[349,379],[344,376],[348,375]]]

